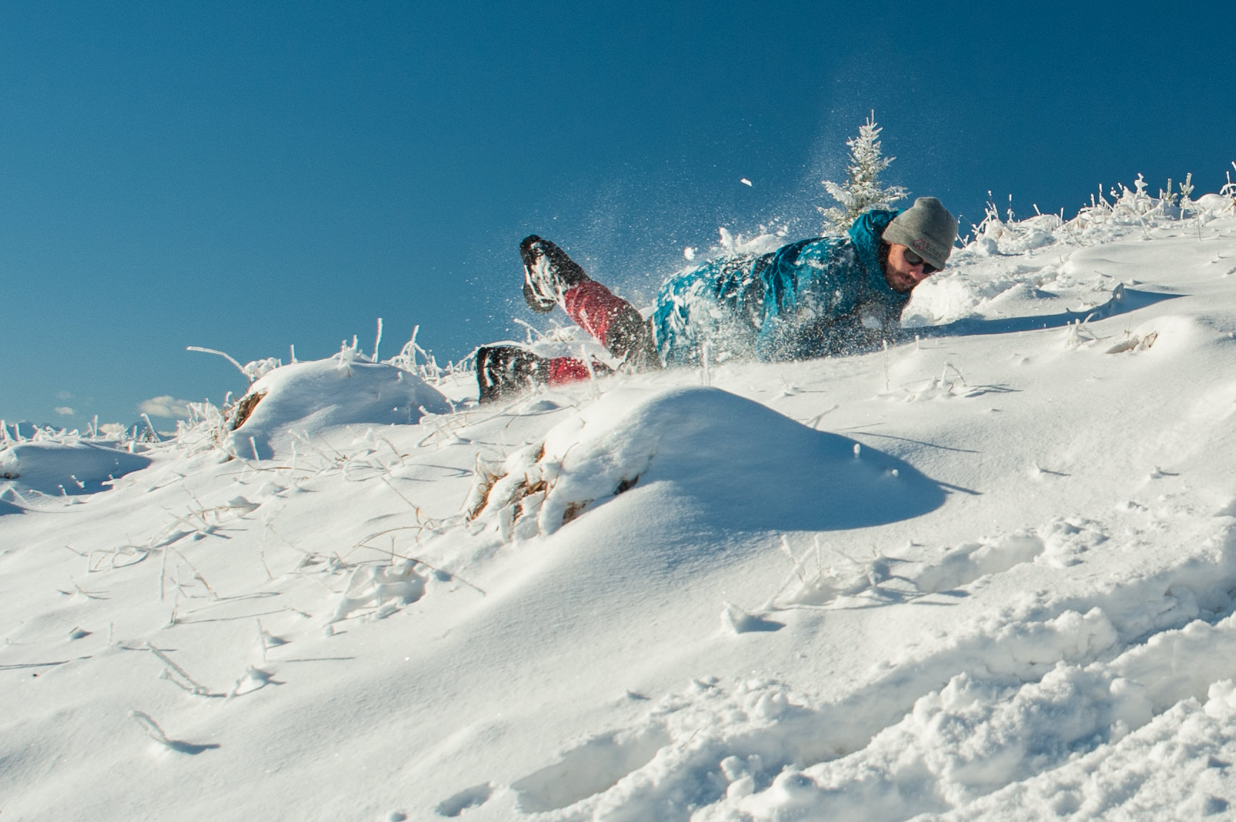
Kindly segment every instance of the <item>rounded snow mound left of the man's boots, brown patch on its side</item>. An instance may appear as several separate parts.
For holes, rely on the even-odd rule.
[[[226,446],[257,459],[283,452],[293,433],[311,436],[332,425],[409,424],[424,414],[451,412],[438,389],[408,371],[336,357],[268,372],[250,386],[239,408],[248,413],[241,414]]]

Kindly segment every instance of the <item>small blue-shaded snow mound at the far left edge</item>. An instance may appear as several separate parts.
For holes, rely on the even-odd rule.
[[[79,496],[106,491],[116,477],[145,468],[150,459],[114,441],[16,443],[0,451],[0,476],[44,494]]]

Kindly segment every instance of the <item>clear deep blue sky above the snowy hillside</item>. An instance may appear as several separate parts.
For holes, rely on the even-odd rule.
[[[810,236],[871,109],[887,182],[963,226],[988,190],[1216,190],[1236,11],[1180,9],[0,2],[0,418],[218,403],[243,378],[185,346],[320,357],[378,316],[459,358],[535,319],[533,231],[650,294],[718,225]]]

